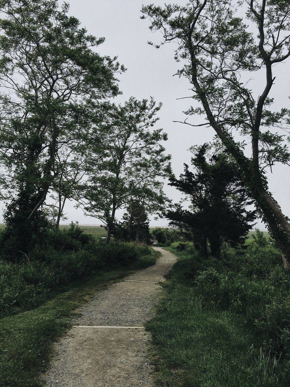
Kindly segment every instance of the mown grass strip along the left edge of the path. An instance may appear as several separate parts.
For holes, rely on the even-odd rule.
[[[74,310],[109,284],[153,265],[159,255],[152,250],[151,255],[141,257],[128,267],[75,283],[70,291],[60,293],[38,308],[1,319],[0,386],[40,387],[39,373],[48,363],[52,343],[69,329]]]

